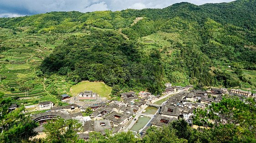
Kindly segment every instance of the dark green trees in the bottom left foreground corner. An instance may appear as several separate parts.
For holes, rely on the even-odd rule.
[[[37,133],[33,129],[37,124],[30,116],[22,113],[24,107],[8,111],[10,99],[0,96],[0,143],[20,143],[28,141]]]

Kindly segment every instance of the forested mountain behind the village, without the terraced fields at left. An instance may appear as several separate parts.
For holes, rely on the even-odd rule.
[[[116,12],[50,12],[1,18],[0,27],[49,35],[45,42],[52,44],[56,35],[70,33],[44,58],[41,71],[67,75],[74,82],[104,81],[113,91],[148,89],[156,94],[165,82],[197,88],[256,86],[241,72],[232,76],[222,68],[256,70],[255,0],[199,6],[182,2],[164,9]]]

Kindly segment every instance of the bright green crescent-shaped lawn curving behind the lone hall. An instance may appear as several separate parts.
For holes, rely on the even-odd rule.
[[[77,85],[72,86],[70,92],[72,95],[77,95],[83,91],[93,91],[99,94],[101,97],[109,97],[112,88],[105,85],[103,82],[90,82],[90,81],[82,81]]]

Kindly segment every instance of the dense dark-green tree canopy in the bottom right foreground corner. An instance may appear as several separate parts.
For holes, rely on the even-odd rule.
[[[256,106],[253,99],[246,103],[238,99],[223,98],[212,103],[207,110],[196,110],[193,123],[210,126],[210,138],[216,143],[256,141]]]

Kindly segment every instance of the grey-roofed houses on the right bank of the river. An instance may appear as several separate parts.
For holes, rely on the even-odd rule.
[[[174,88],[173,86],[171,87]],[[164,103],[159,114],[151,121],[151,125],[163,127],[177,119],[184,119],[191,125],[192,119],[195,116],[193,113],[195,109],[200,108],[205,110],[205,107],[208,107],[211,103],[220,102],[225,94],[228,95],[227,98],[239,98],[242,101],[246,101],[247,97],[256,97],[256,94],[251,94],[248,91],[231,90],[228,92],[225,88],[212,88],[208,91],[193,90],[190,92],[180,92]],[[197,129],[199,126],[193,125],[193,128]]]

